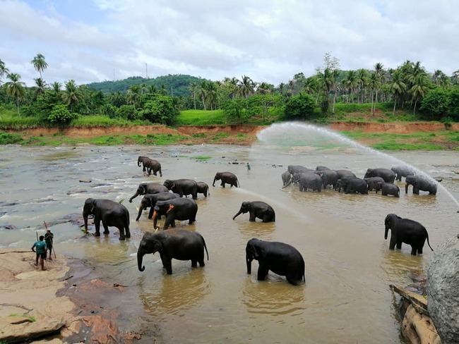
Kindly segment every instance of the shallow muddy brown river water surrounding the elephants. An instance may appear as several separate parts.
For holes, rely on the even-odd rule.
[[[2,146],[0,247],[30,247],[47,221],[56,252],[84,259],[110,283],[130,286],[122,297],[107,300],[120,309],[121,331],[155,327],[163,343],[403,343],[389,285],[412,283],[412,271],[427,271],[433,252],[427,243],[416,257],[407,245],[401,252],[388,250],[384,219],[395,213],[421,222],[434,250],[457,235],[459,179],[453,171],[459,170],[459,152],[384,154],[299,124],[273,125],[258,139],[251,147]],[[163,176],[143,175],[138,155],[160,161]],[[405,195],[404,182],[396,182],[400,198],[299,192],[293,185],[282,189],[280,178],[290,164],[346,167],[363,178],[366,168],[401,163],[443,178],[437,195]],[[235,173],[241,188],[221,188],[219,182],[212,188],[218,171]],[[92,182],[81,183],[83,178]],[[196,201],[196,222],[177,225],[203,235],[210,260],[198,269],[174,260],[172,276],[163,271],[159,254],[146,255],[145,271],[138,271],[138,243],[153,222],[146,211],[135,221],[141,197],[127,202],[139,183],[167,178],[210,185],[210,197],[200,194]],[[119,242],[116,228],[107,237],[83,235],[78,224],[62,220],[81,214],[88,197],[124,199],[131,239]],[[251,223],[249,214],[233,221],[241,202],[250,200],[268,202],[275,223]],[[306,262],[306,283],[290,285],[272,273],[256,281],[256,261],[246,274],[251,238],[296,247]]]

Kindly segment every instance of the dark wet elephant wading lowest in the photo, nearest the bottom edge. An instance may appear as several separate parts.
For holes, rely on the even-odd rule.
[[[304,259],[291,245],[252,238],[246,245],[247,274],[251,274],[254,259],[258,260],[258,281],[264,281],[268,271],[285,276],[293,285],[305,281]]]

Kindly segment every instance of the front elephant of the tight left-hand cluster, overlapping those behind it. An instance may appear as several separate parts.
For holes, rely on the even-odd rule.
[[[153,228],[160,228],[157,226],[157,219],[165,215],[166,221],[162,228],[165,231],[169,226],[175,227],[175,220],[188,220],[190,225],[196,221],[198,204],[196,204],[193,199],[179,197],[167,199],[165,201],[157,201],[153,209]]]

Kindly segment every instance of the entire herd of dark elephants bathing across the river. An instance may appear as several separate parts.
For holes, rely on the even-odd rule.
[[[147,156],[138,157],[138,166],[143,164],[143,171],[150,175],[151,171],[156,176],[161,171],[161,164]],[[408,186],[412,185],[412,192],[419,194],[419,191],[427,191],[431,195],[436,195],[436,184],[422,176],[416,176],[415,171],[409,167],[398,166],[391,170],[386,168],[369,168],[363,179],[357,178],[352,171],[347,169],[333,170],[325,166],[317,166],[316,170],[311,170],[304,166],[288,166],[287,171],[282,173],[283,188],[292,183],[299,185],[300,191],[313,190],[320,192],[329,186],[339,192],[342,190],[348,193],[368,194],[370,190],[381,190],[382,195],[393,195],[400,197],[400,190],[393,184],[395,180],[405,177],[405,192]],[[220,186],[225,188],[225,184],[238,188],[239,180],[234,173],[217,172],[213,180],[221,180]],[[204,251],[209,259],[205,240],[196,231],[174,228],[175,221],[188,221],[189,224],[196,221],[198,205],[195,199],[198,193],[204,197],[210,196],[209,187],[206,183],[196,182],[193,179],[166,179],[164,183],[141,183],[129,202],[139,195],[143,195],[141,204],[138,208],[136,221],[141,217],[143,210],[150,208],[148,219],[153,218],[153,229],[155,233],[145,233],[139,244],[137,251],[137,262],[139,271],[144,271],[142,265],[145,254],[160,253],[162,266],[167,274],[172,274],[172,259],[191,260],[191,266],[205,266]],[[187,196],[191,195],[191,198]],[[240,214],[249,213],[249,221],[260,219],[263,222],[275,221],[275,211],[266,202],[253,201],[242,202],[233,220]],[[95,225],[95,236],[100,236],[100,222],[104,227],[104,234],[109,234],[109,227],[119,229],[119,240],[131,237],[129,230],[129,211],[123,204],[114,202],[110,199],[85,200],[83,206],[83,220],[85,231],[88,231],[88,216],[93,215]],[[165,216],[165,223],[162,231],[157,231],[157,220]],[[169,229],[169,227],[172,227]],[[429,235],[426,228],[421,223],[410,219],[402,219],[395,214],[388,214],[385,219],[385,235],[387,239],[388,230],[391,229],[391,240],[389,248],[401,248],[405,242],[411,245],[411,254],[422,254],[424,242],[429,244]],[[431,247],[430,247],[431,248]],[[297,285],[305,281],[305,264],[302,254],[291,245],[284,242],[270,242],[252,238],[246,244],[246,269],[251,274],[251,262],[258,261],[257,279],[263,281],[268,275],[268,271],[285,276],[289,283]]]

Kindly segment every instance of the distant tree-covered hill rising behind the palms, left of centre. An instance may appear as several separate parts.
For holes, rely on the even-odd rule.
[[[164,75],[157,78],[142,78],[141,76],[134,76],[124,80],[117,81],[103,81],[92,82],[88,87],[93,90],[102,91],[104,93],[122,92],[126,93],[129,87],[136,85],[139,87],[155,87],[156,92],[162,92],[174,97],[190,97],[191,90],[190,84],[194,82],[196,86],[201,85],[201,82],[209,81],[203,78],[196,78],[191,75]]]

